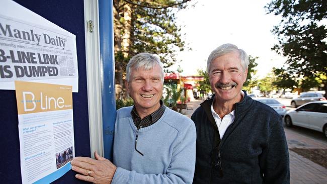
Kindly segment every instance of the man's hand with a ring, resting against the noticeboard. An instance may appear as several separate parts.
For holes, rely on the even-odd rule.
[[[94,153],[96,160],[89,157],[75,157],[71,163],[71,169],[79,172],[75,177],[93,183],[110,184],[117,167],[108,159]]]

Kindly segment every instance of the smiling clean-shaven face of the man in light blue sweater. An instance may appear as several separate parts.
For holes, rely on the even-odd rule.
[[[150,115],[160,108],[163,83],[161,80],[161,69],[155,65],[150,70],[144,67],[133,69],[130,81],[126,81],[127,90],[134,100],[137,113],[141,118]]]

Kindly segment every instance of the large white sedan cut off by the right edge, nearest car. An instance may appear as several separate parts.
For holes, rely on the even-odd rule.
[[[287,127],[292,125],[323,132],[327,137],[327,101],[309,102],[284,116]]]

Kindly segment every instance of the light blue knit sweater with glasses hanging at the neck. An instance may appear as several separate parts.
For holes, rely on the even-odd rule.
[[[191,119],[166,107],[153,125],[138,131],[130,112],[117,111],[112,183],[192,183],[195,167],[196,130]]]

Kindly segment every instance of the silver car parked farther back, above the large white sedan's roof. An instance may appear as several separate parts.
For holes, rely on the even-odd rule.
[[[291,101],[291,106],[297,108],[305,103],[326,100],[322,94],[314,92],[304,92],[300,97]]]

